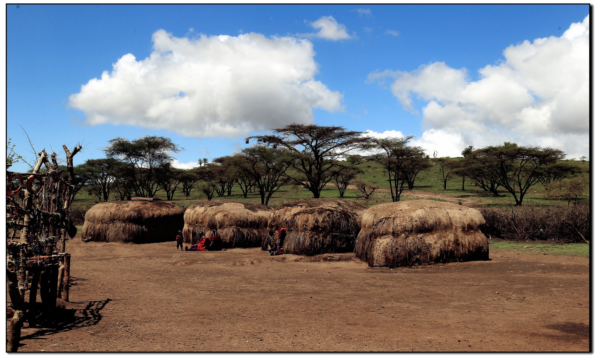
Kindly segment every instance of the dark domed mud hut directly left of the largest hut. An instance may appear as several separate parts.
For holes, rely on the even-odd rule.
[[[367,207],[343,199],[299,199],[281,205],[269,228],[287,228],[284,252],[295,255],[352,252],[362,213]],[[263,250],[266,246],[261,246]]]

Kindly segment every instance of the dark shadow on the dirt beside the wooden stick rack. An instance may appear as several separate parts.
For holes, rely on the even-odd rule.
[[[45,335],[95,325],[101,320],[101,310],[112,300],[108,298],[105,301],[74,303],[58,301],[57,307],[51,312],[36,317],[35,324],[39,330],[24,336],[21,340],[38,339]],[[38,307],[41,307],[41,303],[38,303]]]

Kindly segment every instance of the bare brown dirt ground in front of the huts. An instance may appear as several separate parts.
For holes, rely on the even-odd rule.
[[[352,253],[68,243],[70,304],[18,351],[589,351],[589,259],[370,268]],[[27,324],[25,324],[27,326]]]

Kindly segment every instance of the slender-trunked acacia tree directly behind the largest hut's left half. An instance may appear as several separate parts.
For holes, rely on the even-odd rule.
[[[381,163],[387,171],[387,180],[393,202],[399,202],[403,185],[407,181],[406,166],[413,159],[424,155],[421,147],[407,146],[414,136],[403,138],[369,138],[361,147],[367,151],[378,152],[373,159]]]

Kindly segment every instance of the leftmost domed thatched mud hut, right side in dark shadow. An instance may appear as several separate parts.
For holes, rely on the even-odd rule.
[[[87,210],[82,236],[91,241],[164,242],[173,241],[182,225],[182,209],[175,204],[120,200]]]

